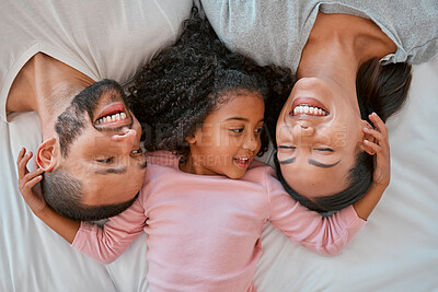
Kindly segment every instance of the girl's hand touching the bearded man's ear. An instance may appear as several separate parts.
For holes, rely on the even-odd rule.
[[[26,201],[28,207],[35,214],[42,213],[46,208],[47,203],[43,198],[41,184],[43,179],[44,171],[42,168],[36,168],[35,171],[28,172],[27,162],[32,159],[32,152],[27,152],[23,148],[16,160],[16,166],[19,170],[19,188]]]

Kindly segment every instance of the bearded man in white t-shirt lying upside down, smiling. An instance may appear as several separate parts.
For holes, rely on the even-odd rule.
[[[9,1],[0,24],[0,116],[35,110],[45,199],[79,220],[112,217],[145,174],[141,128],[122,87],[176,39],[192,1]],[[169,3],[168,3],[169,2]]]

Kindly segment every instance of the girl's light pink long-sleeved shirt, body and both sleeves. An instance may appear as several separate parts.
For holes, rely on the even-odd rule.
[[[308,210],[261,162],[230,179],[183,173],[175,156],[158,152],[148,157],[136,202],[104,229],[82,222],[72,246],[108,264],[143,231],[151,291],[255,291],[268,220],[291,241],[325,255],[338,254],[365,224],[353,207],[330,218]]]

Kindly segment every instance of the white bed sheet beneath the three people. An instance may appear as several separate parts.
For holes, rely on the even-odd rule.
[[[437,109],[436,57],[414,67],[410,101],[388,122],[392,178],[368,224],[336,257],[308,252],[266,225],[258,291],[438,291]],[[33,113],[0,124],[0,291],[147,291],[147,235],[104,266],[32,214],[18,189],[15,159],[39,141]]]

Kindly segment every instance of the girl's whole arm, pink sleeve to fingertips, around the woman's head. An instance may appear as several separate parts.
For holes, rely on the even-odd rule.
[[[376,130],[366,130],[376,139],[376,142],[367,143],[367,147],[376,152],[373,184],[358,202],[324,218],[295,201],[274,177],[268,179],[269,220],[291,241],[321,254],[336,255],[348,245],[365,225],[390,182],[387,128],[376,114],[371,115],[370,118],[376,125]]]

